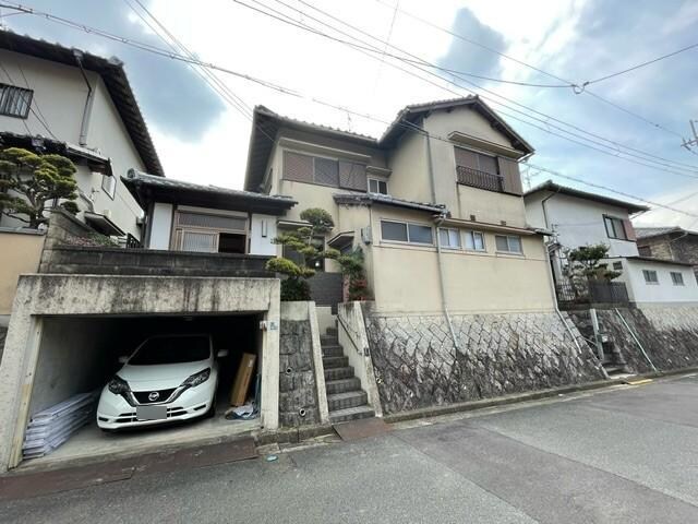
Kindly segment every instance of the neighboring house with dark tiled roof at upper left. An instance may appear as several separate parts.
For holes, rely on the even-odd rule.
[[[1,145],[70,157],[79,218],[141,238],[143,212],[120,177],[164,172],[122,62],[2,31],[0,66]],[[3,216],[0,226],[23,223]]]

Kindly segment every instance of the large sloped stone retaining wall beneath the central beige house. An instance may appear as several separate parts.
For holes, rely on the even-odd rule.
[[[386,414],[604,378],[600,362],[555,312],[445,317],[366,314]]]

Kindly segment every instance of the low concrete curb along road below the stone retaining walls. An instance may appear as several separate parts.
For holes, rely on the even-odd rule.
[[[661,377],[672,377],[677,374],[690,374],[698,372],[698,367],[671,369],[667,371],[657,371],[651,373],[642,373],[633,376],[633,380],[655,379]],[[526,393],[515,393],[512,395],[497,396],[494,398],[483,398],[481,401],[461,402],[457,404],[448,404],[445,406],[424,407],[404,413],[394,413],[385,415],[383,419],[388,424],[402,422],[406,420],[417,420],[420,418],[437,417],[441,415],[450,415],[455,413],[474,412],[489,407],[507,406],[512,404],[520,404],[530,401],[540,401],[542,398],[551,398],[557,395],[575,393],[580,391],[601,390],[627,383],[627,379],[598,380],[594,382],[585,382],[582,384],[563,385],[559,388],[551,388],[547,390],[531,391]]]

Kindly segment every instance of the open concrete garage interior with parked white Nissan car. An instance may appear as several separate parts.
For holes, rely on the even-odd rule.
[[[36,457],[43,450],[27,448],[25,457],[35,455],[38,463],[158,451],[257,429],[261,320],[254,313],[45,317],[29,417],[111,384],[95,394],[85,426],[63,443],[67,436],[53,436],[44,456]],[[249,368],[246,373],[239,373],[241,366]],[[101,395],[108,398],[95,415]]]

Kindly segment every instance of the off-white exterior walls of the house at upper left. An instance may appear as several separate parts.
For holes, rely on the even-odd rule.
[[[0,71],[0,82],[33,90],[32,108],[36,112],[40,110],[55,136],[51,136],[32,111],[26,119],[0,116],[0,130],[17,134],[40,134],[79,145],[87,97],[87,86],[80,69],[5,50],[0,50],[0,62],[9,73],[8,75]],[[87,76],[94,88],[94,100],[86,146],[111,158],[117,190],[112,200],[101,189],[101,175],[91,172],[85,166],[79,166],[75,178],[80,190],[92,199],[92,205],[82,198],[79,198],[76,203],[83,211],[94,207],[95,213],[108,214],[121,229],[140,238],[141,230],[136,226],[136,218],[142,216],[143,212],[120,177],[125,176],[130,168],[145,170],[145,166],[101,78],[91,71],[87,71]],[[14,225],[7,217],[3,217],[1,224]]]

